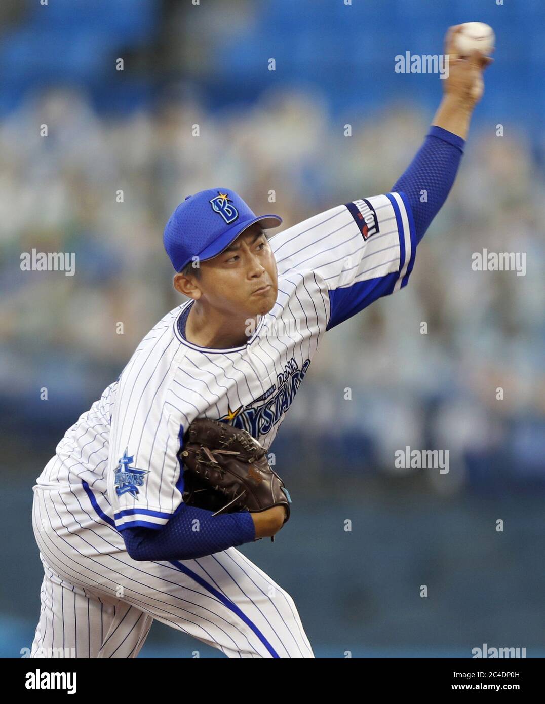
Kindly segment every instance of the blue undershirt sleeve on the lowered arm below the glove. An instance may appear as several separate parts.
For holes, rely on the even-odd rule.
[[[133,560],[192,560],[256,539],[249,511],[212,513],[182,503],[160,530],[125,528],[127,553]]]

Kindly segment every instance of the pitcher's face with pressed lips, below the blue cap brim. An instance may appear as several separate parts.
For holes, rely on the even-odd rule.
[[[227,315],[268,313],[276,302],[278,279],[261,225],[252,225],[217,257],[201,262],[197,285],[203,300]]]

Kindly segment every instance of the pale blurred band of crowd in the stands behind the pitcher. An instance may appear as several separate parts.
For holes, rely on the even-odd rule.
[[[213,114],[182,94],[155,111],[108,119],[84,92],[49,89],[1,123],[4,389],[34,393],[45,367],[68,374],[70,359],[78,360],[64,377],[72,394],[78,384],[89,392],[96,365],[118,374],[139,339],[182,302],[162,231],[185,196],[230,187],[289,227],[389,191],[431,118],[393,102],[355,119],[346,136],[318,92],[277,89]],[[430,446],[431,435],[462,452],[501,448],[509,435],[523,449],[530,443],[530,465],[541,465],[543,440],[532,428],[545,415],[544,195],[524,134],[473,130],[408,287],[325,337],[311,389],[287,425],[308,425],[311,414],[318,432],[335,417],[337,432],[372,437],[387,464],[408,437]],[[32,249],[75,253],[75,275],[21,271],[20,255]],[[483,249],[527,253],[526,275],[472,270],[472,253]]]

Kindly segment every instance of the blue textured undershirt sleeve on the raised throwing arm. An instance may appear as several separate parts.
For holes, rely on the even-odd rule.
[[[404,193],[408,199],[417,242],[449,195],[464,145],[465,140],[458,135],[433,125],[415,158],[391,189],[394,193]]]

